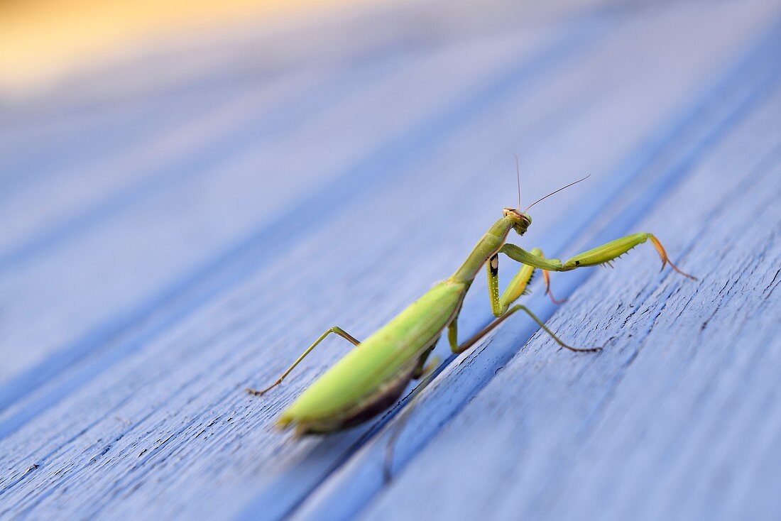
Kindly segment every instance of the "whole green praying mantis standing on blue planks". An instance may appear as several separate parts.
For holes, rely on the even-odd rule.
[[[587,266],[608,264],[632,248],[646,241],[651,241],[662,259],[662,269],[669,264],[683,277],[696,279],[683,273],[678,266],[673,264],[669,260],[665,248],[662,247],[662,243],[654,235],[648,233],[631,234],[615,239],[615,241],[575,255],[565,262],[559,259],[546,259],[539,248],[526,251],[507,242],[511,230],[520,236],[526,233],[532,223],[532,218],[528,213],[529,209],[551,195],[573,184],[580,183],[586,178],[547,194],[523,211],[520,210],[519,180],[518,208],[502,210],[501,219],[491,225],[466,257],[462,266],[451,277],[435,284],[422,297],[408,305],[398,316],[376,330],[365,341],[356,340],[340,327],[331,327],[306,348],[301,356],[273,384],[260,391],[248,389],[248,392],[262,395],[281,384],[301,360],[305,359],[323,339],[329,334],[337,334],[355,345],[356,348],[349,351],[336,365],[312,383],[282,412],[276,421],[276,425],[282,428],[294,426],[296,434],[324,434],[355,426],[393,405],[411,380],[417,380],[427,373],[426,361],[446,328],[451,351],[458,354],[470,348],[503,320],[515,312],[522,311],[530,316],[562,348],[578,352],[601,350],[601,348],[575,348],[565,344],[525,305],[512,305],[526,292],[526,287],[536,269],[543,271],[546,294],[549,294],[551,300],[558,303],[551,294],[549,272],[570,271]],[[510,259],[521,263],[518,273],[510,280],[508,287],[501,295],[499,294],[500,254],[507,255]],[[497,318],[480,333],[463,344],[458,344],[458,312],[461,310],[469,287],[483,265],[487,269],[491,311]]]

